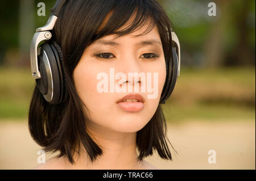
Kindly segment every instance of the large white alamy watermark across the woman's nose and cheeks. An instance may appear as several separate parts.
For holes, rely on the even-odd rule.
[[[141,77],[141,92],[148,92],[148,99],[155,99],[158,97],[158,73],[128,73],[129,84],[126,86],[126,74],[115,74],[114,68],[110,68],[110,77],[108,74],[101,72],[97,74],[97,80],[101,80],[97,84],[97,91],[102,92],[133,92],[133,78],[134,78],[134,92],[139,92],[139,77]],[[119,80],[115,83],[115,80]],[[147,87],[146,87],[147,85]],[[110,90],[109,90],[110,87]],[[127,90],[128,88],[128,90]]]

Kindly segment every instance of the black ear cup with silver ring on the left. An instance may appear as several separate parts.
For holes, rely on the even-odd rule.
[[[47,102],[61,103],[65,97],[65,83],[61,68],[63,57],[60,46],[54,41],[42,44],[38,61],[41,78],[36,79],[36,85]]]

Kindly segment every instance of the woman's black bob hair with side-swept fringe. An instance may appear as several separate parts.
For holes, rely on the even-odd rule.
[[[125,25],[134,12],[136,16],[129,28],[117,31]],[[109,14],[111,16],[108,22],[100,28]],[[170,62],[172,58],[172,37],[169,33],[171,21],[156,0],[68,0],[65,2],[53,28],[52,39],[57,41],[63,51],[67,99],[60,104],[49,104],[35,86],[28,113],[30,134],[44,151],[53,153],[60,151],[58,157],[65,155],[72,164],[75,163],[73,154],[75,151],[77,153],[80,151],[80,143],[84,146],[90,162],[103,154],[100,146],[86,132],[85,120],[88,119],[84,114],[86,106],[76,92],[73,70],[84,49],[93,41],[107,35],[116,34],[119,37],[126,35],[144,26],[147,20],[150,22],[150,27],[143,35],[150,32],[156,25],[163,44],[165,60]],[[166,79],[170,76],[167,72]],[[166,120],[162,104],[159,104],[151,120],[137,132],[136,145],[139,151],[137,161],[152,155],[153,149],[158,151],[161,158],[172,160],[168,142],[170,143],[166,136]],[[76,150],[77,146],[78,150]]]

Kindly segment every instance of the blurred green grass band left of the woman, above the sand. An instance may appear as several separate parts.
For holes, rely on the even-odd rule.
[[[0,67],[0,119],[26,118],[34,85],[29,69]]]

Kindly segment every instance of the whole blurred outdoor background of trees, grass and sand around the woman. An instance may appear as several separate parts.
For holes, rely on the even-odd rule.
[[[163,106],[167,135],[179,155],[148,162],[159,169],[255,169],[255,1],[158,0],[181,45],[180,77]],[[38,16],[39,2],[46,15]],[[209,16],[210,2],[216,16]],[[1,1],[0,169],[37,165],[27,128],[35,82],[30,42],[55,1]],[[216,163],[209,163],[209,150]]]

